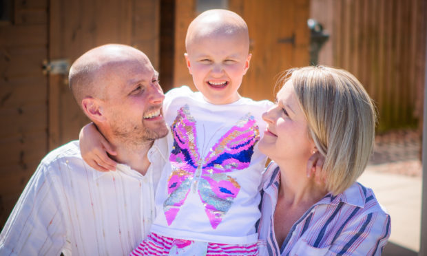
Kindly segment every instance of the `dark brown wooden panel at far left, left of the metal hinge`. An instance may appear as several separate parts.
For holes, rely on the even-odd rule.
[[[48,0],[12,1],[0,23],[0,227],[48,152]]]

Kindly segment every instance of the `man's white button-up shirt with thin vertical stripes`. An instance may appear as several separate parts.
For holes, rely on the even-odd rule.
[[[155,217],[165,152],[167,141],[156,140],[145,175],[125,164],[117,171],[92,169],[78,141],[50,152],[0,234],[0,255],[129,255]]]

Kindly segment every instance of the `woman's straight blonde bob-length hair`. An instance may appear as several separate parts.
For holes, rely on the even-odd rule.
[[[306,116],[309,136],[325,157],[326,189],[344,192],[363,173],[375,138],[373,100],[349,72],[316,66],[289,70],[300,107]]]

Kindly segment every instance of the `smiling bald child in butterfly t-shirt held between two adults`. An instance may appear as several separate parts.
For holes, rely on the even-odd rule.
[[[171,164],[158,183],[151,233],[132,255],[258,255],[266,157],[257,142],[273,104],[238,94],[251,60],[247,25],[228,10],[203,12],[185,46],[199,92],[184,86],[166,94]]]

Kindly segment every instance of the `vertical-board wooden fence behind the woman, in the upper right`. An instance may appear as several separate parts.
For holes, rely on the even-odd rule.
[[[330,34],[319,63],[359,78],[377,105],[379,131],[422,125],[426,2],[311,0],[311,17]]]

